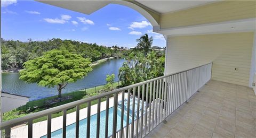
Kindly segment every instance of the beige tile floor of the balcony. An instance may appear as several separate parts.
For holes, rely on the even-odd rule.
[[[256,137],[256,96],[249,87],[210,81],[146,137]]]

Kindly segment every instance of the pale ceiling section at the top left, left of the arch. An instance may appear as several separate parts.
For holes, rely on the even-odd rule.
[[[111,1],[72,1],[72,0],[61,0],[61,1],[45,1],[36,0],[45,4],[66,8],[68,10],[81,12],[85,14],[91,14],[100,8],[108,5]]]

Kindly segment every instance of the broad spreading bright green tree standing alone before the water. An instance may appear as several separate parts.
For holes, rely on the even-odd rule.
[[[53,49],[23,63],[20,79],[48,88],[57,86],[58,97],[61,98],[61,91],[68,83],[76,82],[92,71],[90,64],[90,59],[81,55]]]

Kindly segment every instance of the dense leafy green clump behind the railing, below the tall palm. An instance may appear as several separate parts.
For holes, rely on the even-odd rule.
[[[123,66],[119,68],[119,80],[123,87],[164,75],[164,55],[158,56],[151,51],[145,57],[143,53],[131,53]]]

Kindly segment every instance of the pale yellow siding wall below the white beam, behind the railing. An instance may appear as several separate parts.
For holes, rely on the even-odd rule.
[[[213,80],[248,86],[252,46],[253,32],[168,37],[166,74],[213,62]]]

